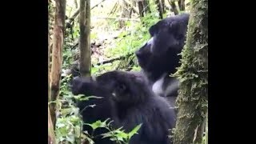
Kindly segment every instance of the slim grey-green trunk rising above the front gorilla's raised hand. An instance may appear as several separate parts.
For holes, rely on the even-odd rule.
[[[80,74],[90,76],[90,0],[80,0]]]

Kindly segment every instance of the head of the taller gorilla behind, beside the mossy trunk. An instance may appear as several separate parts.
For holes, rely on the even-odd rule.
[[[156,81],[164,73],[173,74],[180,66],[178,54],[186,41],[188,21],[189,14],[179,14],[150,27],[150,40],[135,54],[139,66],[151,81]]]

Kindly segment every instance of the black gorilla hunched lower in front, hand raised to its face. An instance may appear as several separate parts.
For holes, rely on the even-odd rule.
[[[82,113],[88,122],[114,120],[115,128],[123,126],[130,131],[142,124],[130,144],[170,144],[170,129],[175,126],[174,109],[161,97],[155,96],[145,79],[133,72],[114,70],[96,78],[74,78],[74,94],[87,94],[103,97],[94,99],[96,106]],[[82,110],[88,102],[80,102]],[[102,132],[102,131],[101,131]],[[101,144],[98,139],[96,144]]]

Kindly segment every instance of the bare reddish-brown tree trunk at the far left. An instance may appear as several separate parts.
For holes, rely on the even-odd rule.
[[[56,104],[53,101],[58,98],[62,72],[62,47],[64,41],[66,0],[55,0],[55,3],[53,52],[50,72],[50,102],[52,102],[50,104],[50,114],[54,124],[54,130],[56,123]]]

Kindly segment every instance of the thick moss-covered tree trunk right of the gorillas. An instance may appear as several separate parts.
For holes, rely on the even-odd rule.
[[[181,82],[175,144],[202,143],[208,108],[208,0],[191,0],[191,6],[182,66],[174,74]]]

